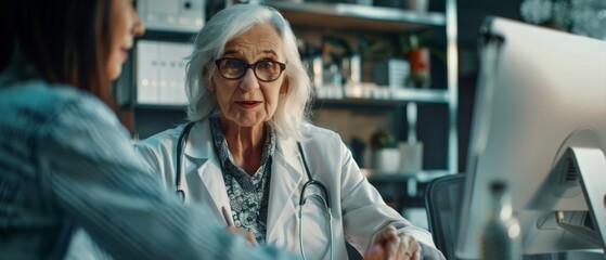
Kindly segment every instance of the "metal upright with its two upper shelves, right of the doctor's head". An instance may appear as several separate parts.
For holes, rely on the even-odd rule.
[[[338,99],[318,98],[317,103],[330,105],[402,105],[408,103],[438,103],[448,106],[448,166],[444,171],[457,169],[457,44],[456,44],[456,1],[444,1],[444,13],[418,13],[409,10],[369,6],[348,3],[309,3],[266,1],[279,10],[293,27],[315,27],[339,31],[378,31],[398,34],[427,27],[446,27],[447,86],[435,89],[390,89],[382,98]],[[385,89],[385,88],[379,88]]]

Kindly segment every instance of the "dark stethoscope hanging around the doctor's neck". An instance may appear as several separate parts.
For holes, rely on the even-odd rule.
[[[179,139],[177,140],[177,164],[176,164],[176,186],[177,186],[177,196],[182,200],[185,202],[185,192],[184,190],[181,187],[181,179],[182,179],[182,174],[184,174],[183,172],[183,152],[185,151],[185,143],[188,141],[188,138],[190,136],[190,131],[192,130],[192,127],[195,125],[195,121],[189,122],[183,130],[181,131],[181,133],[179,134]],[[302,259],[306,260],[307,258],[305,257],[305,249],[304,249],[304,244],[302,244],[302,207],[304,205],[307,203],[308,198],[315,198],[318,200],[320,200],[326,210],[326,216],[328,218],[328,236],[330,236],[330,240],[328,240],[328,246],[331,248],[331,260],[333,260],[333,214],[331,213],[331,197],[328,196],[328,188],[326,188],[326,186],[317,180],[313,180],[313,178],[311,177],[311,173],[309,171],[309,167],[307,165],[307,159],[305,158],[305,153],[302,150],[302,145],[300,142],[297,142],[297,146],[299,148],[299,153],[301,154],[301,159],[302,159],[302,165],[305,167],[305,172],[307,174],[307,179],[308,181],[304,184],[302,188],[301,188],[301,196],[299,198],[299,213],[298,213],[298,218],[299,218],[299,248],[301,251],[301,256]],[[322,195],[317,194],[317,193],[312,193],[308,196],[306,196],[306,191],[308,191],[308,187],[311,187],[315,185],[318,188],[320,188],[320,191],[322,192]]]

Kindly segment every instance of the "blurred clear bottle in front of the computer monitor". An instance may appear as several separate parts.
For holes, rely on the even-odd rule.
[[[520,260],[521,234],[519,221],[513,214],[507,185],[494,181],[489,186],[491,200],[488,219],[481,234],[482,260]]]

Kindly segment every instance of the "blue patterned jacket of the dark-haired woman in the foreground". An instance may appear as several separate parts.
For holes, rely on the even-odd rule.
[[[0,259],[88,258],[75,234],[120,259],[288,257],[167,194],[100,100],[24,72],[0,74]]]

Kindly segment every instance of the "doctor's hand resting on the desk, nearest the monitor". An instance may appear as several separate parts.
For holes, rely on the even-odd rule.
[[[412,236],[400,233],[392,225],[383,229],[376,236],[365,260],[421,260],[421,244]]]

